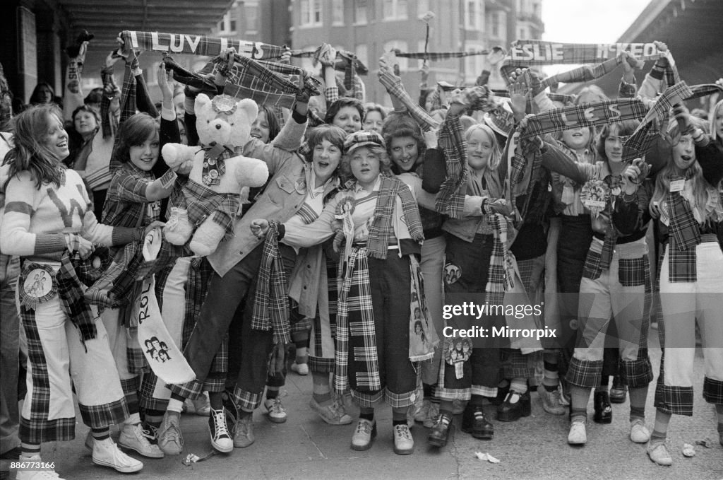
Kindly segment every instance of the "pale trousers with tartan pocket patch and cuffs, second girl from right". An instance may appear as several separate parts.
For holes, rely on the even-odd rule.
[[[588,262],[596,261],[602,240],[590,245]],[[631,388],[644,387],[653,379],[647,350],[652,284],[645,237],[615,245],[609,269],[592,279],[585,269],[580,283],[578,337],[567,379],[578,387],[600,383],[604,348],[620,350],[620,375]],[[609,334],[610,321],[617,334]],[[606,333],[607,332],[607,333]]]

